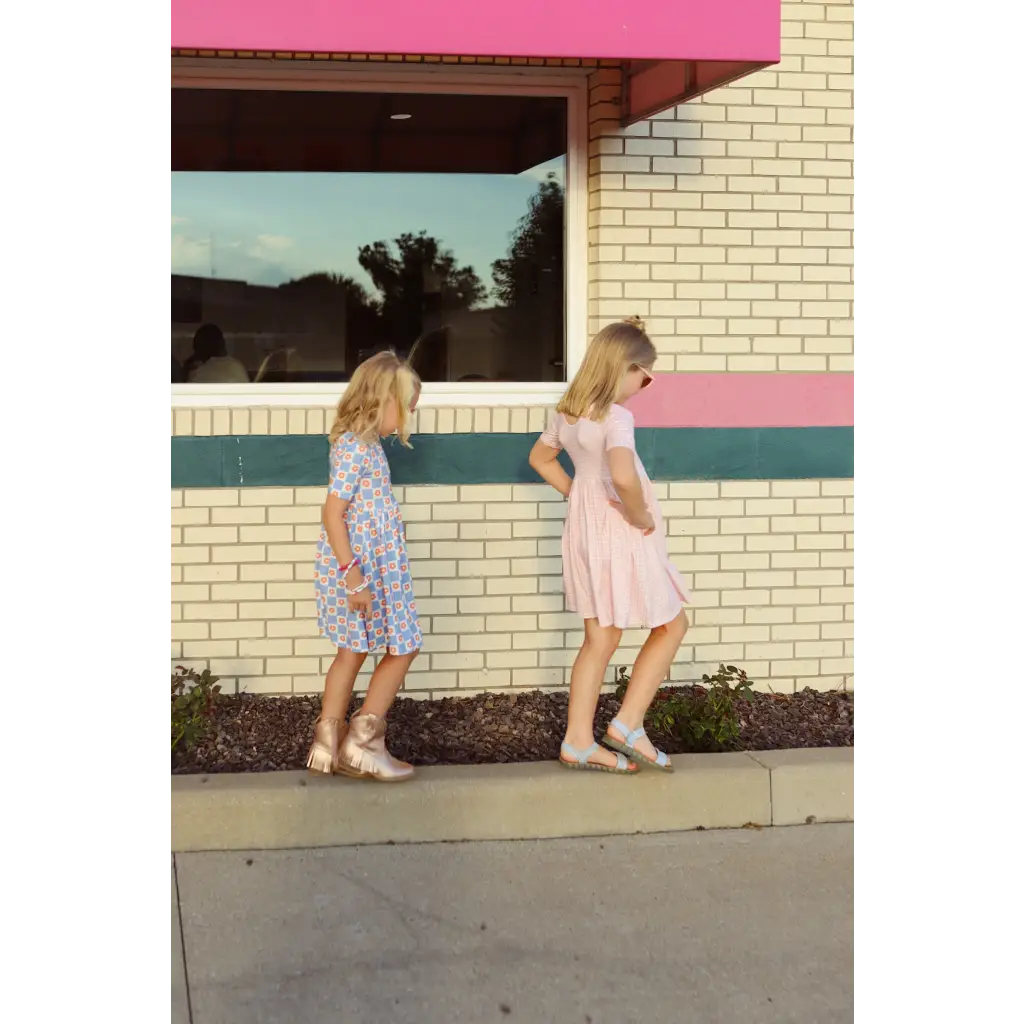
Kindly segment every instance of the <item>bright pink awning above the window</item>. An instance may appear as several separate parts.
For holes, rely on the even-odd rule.
[[[171,49],[627,61],[635,121],[780,57],[780,0],[170,0]]]

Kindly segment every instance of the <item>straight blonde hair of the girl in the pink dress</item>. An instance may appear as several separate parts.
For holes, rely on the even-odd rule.
[[[557,411],[575,419],[586,416],[600,422],[618,397],[630,367],[652,367],[656,358],[657,352],[639,316],[609,324],[594,336]]]

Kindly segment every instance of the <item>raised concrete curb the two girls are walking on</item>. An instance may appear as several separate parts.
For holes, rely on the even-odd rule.
[[[170,847],[283,850],[564,839],[854,820],[854,748],[681,754],[671,775],[552,762],[422,768],[397,785],[306,772],[176,775]]]

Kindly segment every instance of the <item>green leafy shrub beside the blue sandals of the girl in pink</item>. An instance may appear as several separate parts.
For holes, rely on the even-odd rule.
[[[625,669],[616,676],[615,697],[622,701],[630,677]],[[702,686],[689,690],[659,690],[647,712],[649,726],[694,752],[729,750],[739,738],[738,701],[754,697],[746,673],[720,665],[714,676],[705,675]]]

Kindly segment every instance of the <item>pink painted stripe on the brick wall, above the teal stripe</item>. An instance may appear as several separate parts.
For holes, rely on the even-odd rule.
[[[853,374],[657,374],[638,427],[851,427]]]

